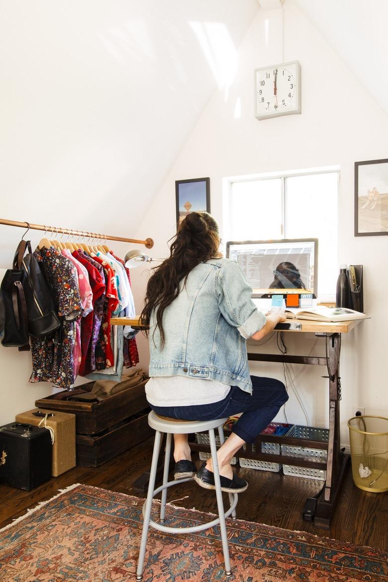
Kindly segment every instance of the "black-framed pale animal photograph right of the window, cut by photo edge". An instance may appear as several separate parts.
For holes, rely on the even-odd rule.
[[[354,236],[388,235],[388,159],[354,164]]]

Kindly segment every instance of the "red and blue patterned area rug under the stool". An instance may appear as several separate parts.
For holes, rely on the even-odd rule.
[[[0,531],[0,580],[136,580],[143,502],[87,485],[66,489]],[[205,513],[171,505],[166,518],[176,527],[209,521]],[[218,528],[184,535],[151,529],[144,582],[387,581],[388,556],[379,549],[242,520],[228,520],[227,530],[229,579]]]

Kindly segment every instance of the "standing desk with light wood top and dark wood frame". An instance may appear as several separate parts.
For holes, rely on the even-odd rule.
[[[284,324],[275,327],[275,331],[286,333],[314,333],[315,336],[325,340],[324,356],[292,356],[290,354],[260,354],[248,353],[248,360],[270,361],[290,364],[314,364],[324,365],[328,370],[329,380],[329,441],[306,441],[306,439],[293,437],[277,437],[274,435],[260,435],[254,445],[247,443],[245,450],[236,453],[236,457],[242,456],[245,459],[268,461],[272,463],[293,464],[298,467],[308,467],[312,469],[326,470],[326,481],[318,498],[314,521],[317,527],[329,529],[334,516],[334,510],[340,496],[341,487],[346,475],[346,468],[349,455],[345,455],[340,449],[340,400],[341,400],[341,380],[340,380],[340,352],[341,334],[349,333],[361,320],[323,322],[312,320],[287,320]],[[144,329],[139,318],[112,318],[112,325],[131,325],[137,329]],[[284,329],[290,324],[290,329]],[[261,442],[275,442],[279,445],[306,446],[312,449],[326,449],[328,457],[326,462],[311,460],[311,457],[289,457],[286,455],[272,455],[261,452]],[[192,450],[210,452],[210,446],[199,443],[190,443]],[[291,462],[292,459],[292,462]]]

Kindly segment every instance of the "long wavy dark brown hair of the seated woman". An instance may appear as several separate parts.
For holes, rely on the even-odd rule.
[[[200,262],[216,257],[219,247],[218,224],[208,212],[190,212],[180,224],[170,247],[170,256],[149,278],[141,320],[149,326],[151,313],[156,312],[156,327],[165,343],[162,319],[166,307],[179,294],[179,283]]]

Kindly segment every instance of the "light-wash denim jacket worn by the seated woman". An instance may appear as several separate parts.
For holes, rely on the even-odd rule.
[[[215,258],[194,267],[163,313],[163,349],[151,315],[149,375],[211,379],[252,392],[245,339],[266,318],[251,294],[237,262]]]

